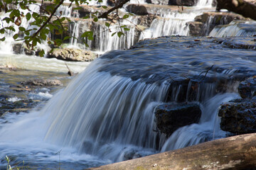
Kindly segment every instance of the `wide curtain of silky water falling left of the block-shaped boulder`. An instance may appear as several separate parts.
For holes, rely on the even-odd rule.
[[[97,72],[102,67],[99,62],[90,65],[41,111],[50,113],[45,140],[105,159],[110,155],[100,149],[112,142],[122,149],[125,145],[159,148],[158,134],[153,131],[154,107],[164,101],[168,86]]]

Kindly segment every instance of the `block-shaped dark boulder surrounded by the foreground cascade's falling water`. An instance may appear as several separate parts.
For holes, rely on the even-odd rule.
[[[155,115],[158,130],[170,136],[178,128],[198,123],[201,108],[196,103],[166,104],[158,106]]]

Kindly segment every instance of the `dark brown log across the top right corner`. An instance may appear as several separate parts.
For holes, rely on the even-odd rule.
[[[222,8],[256,20],[256,5],[250,2],[244,0],[217,0],[217,10]]]

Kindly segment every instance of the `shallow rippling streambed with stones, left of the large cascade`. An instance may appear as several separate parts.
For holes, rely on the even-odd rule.
[[[63,88],[71,79],[65,73],[37,72],[5,67],[0,67],[0,77],[0,115],[4,113],[18,114],[28,112],[35,107],[41,108],[54,91]],[[50,82],[52,84],[49,84]]]

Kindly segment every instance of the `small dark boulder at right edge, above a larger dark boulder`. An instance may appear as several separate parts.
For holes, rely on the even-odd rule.
[[[242,98],[252,98],[256,96],[256,76],[240,82],[238,92]]]

